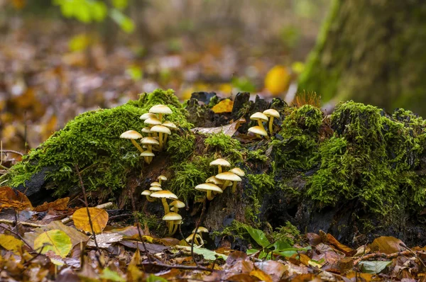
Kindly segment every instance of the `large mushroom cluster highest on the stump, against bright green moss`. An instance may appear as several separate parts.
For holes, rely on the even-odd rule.
[[[141,115],[140,119],[146,123],[146,127],[142,128],[142,133],[148,135],[143,137],[141,133],[135,130],[129,130],[120,135],[120,138],[129,139],[133,145],[141,152],[141,157],[147,164],[151,164],[155,154],[153,151],[162,151],[167,142],[168,135],[172,134],[170,130],[176,130],[178,127],[166,120],[163,123],[163,115],[172,113],[172,110],[165,105],[155,105],[149,109],[149,113]],[[138,145],[136,140],[141,139]],[[143,150],[145,149],[145,150]]]

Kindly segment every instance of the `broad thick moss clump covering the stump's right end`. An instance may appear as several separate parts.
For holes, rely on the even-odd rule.
[[[340,103],[331,119],[334,136],[320,147],[320,169],[309,179],[312,199],[322,205],[355,199],[381,215],[425,205],[425,181],[414,172],[426,145],[423,130],[352,101]]]

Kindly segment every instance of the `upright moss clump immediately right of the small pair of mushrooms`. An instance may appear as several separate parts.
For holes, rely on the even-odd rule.
[[[317,165],[322,120],[321,110],[311,105],[296,108],[285,118],[279,132],[282,140],[272,142],[276,169],[291,173]]]

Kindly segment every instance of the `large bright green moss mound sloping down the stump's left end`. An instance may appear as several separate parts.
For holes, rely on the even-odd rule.
[[[45,181],[48,187],[55,188],[55,195],[60,196],[77,186],[74,169],[77,164],[89,190],[100,191],[104,197],[111,195],[117,188],[125,187],[131,171],[140,171],[143,165],[136,148],[119,136],[126,130],[141,130],[143,121],[139,116],[158,103],[172,109],[168,120],[180,127],[190,127],[187,113],[173,91],[143,94],[138,101],[77,116],[13,166],[4,176],[8,180],[6,184],[25,186],[31,176],[49,167]]]

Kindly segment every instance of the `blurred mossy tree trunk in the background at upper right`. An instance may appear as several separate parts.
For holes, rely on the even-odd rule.
[[[426,114],[426,2],[334,0],[300,91]]]

